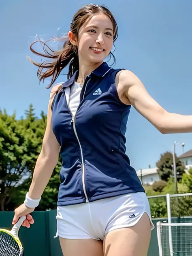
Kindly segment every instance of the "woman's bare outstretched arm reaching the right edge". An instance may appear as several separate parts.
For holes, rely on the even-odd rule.
[[[117,91],[124,103],[131,104],[162,134],[192,132],[192,115],[167,112],[149,95],[143,83],[131,71],[124,70],[119,74]]]

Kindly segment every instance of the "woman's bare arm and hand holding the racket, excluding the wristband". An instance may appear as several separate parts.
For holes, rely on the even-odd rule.
[[[51,89],[48,111],[47,111],[47,127],[43,138],[43,144],[41,153],[36,161],[32,183],[29,188],[28,196],[31,199],[38,199],[43,194],[47,183],[53,173],[53,170],[58,163],[60,144],[58,143],[55,134],[53,133],[51,125],[51,105],[55,97],[56,91],[60,85],[55,85]],[[15,224],[19,217],[27,216],[23,222],[23,226],[30,227],[30,224],[34,223],[32,216],[29,214],[34,211],[34,208],[28,208],[24,203],[15,209],[15,216],[13,218],[13,224]]]

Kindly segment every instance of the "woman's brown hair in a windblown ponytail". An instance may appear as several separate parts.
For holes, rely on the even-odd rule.
[[[115,18],[113,17],[112,13],[107,9],[107,7],[103,5],[95,5],[95,4],[87,4],[83,6],[75,15],[73,16],[72,22],[70,23],[70,30],[78,36],[79,28],[85,23],[85,21],[88,21],[91,19],[95,14],[97,13],[104,13],[111,19],[113,23],[113,43],[117,39],[118,36],[118,27],[117,23],[115,21]],[[41,40],[34,41],[31,46],[30,50],[32,53],[35,53],[36,55],[46,57],[49,59],[52,59],[51,61],[45,61],[43,63],[37,63],[31,60],[29,57],[28,59],[36,66],[38,66],[37,76],[39,81],[45,80],[47,77],[52,77],[51,83],[46,87],[50,88],[51,85],[55,82],[55,80],[60,75],[63,68],[65,68],[69,64],[69,70],[68,70],[68,79],[75,73],[76,70],[79,69],[79,58],[78,58],[78,50],[77,46],[70,43],[68,36],[63,36],[62,38],[57,38],[58,41],[65,41],[62,49],[60,51],[53,51],[45,42],[42,42]],[[55,38],[54,38],[55,41]],[[43,51],[44,53],[39,53],[35,51],[32,46],[34,43],[40,42],[43,44]],[[111,55],[114,58],[115,63],[115,57],[112,52],[110,52],[110,59]],[[54,60],[55,59],[55,60]],[[43,70],[46,69],[45,72]]]

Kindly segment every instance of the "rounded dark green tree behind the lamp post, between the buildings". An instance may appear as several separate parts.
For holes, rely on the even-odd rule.
[[[182,179],[182,175],[184,173],[185,166],[181,163],[177,155],[175,154],[175,164],[177,170],[177,180],[180,181]],[[158,162],[156,162],[156,166],[158,167],[158,173],[162,180],[168,181],[170,177],[173,177],[173,155],[171,152],[165,152],[161,154],[161,158]]]

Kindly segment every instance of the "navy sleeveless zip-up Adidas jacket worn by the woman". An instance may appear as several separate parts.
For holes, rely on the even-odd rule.
[[[115,87],[120,70],[104,62],[86,77],[75,117],[65,88],[78,71],[55,95],[51,122],[62,157],[58,206],[145,192],[125,153],[130,106],[120,101]]]

